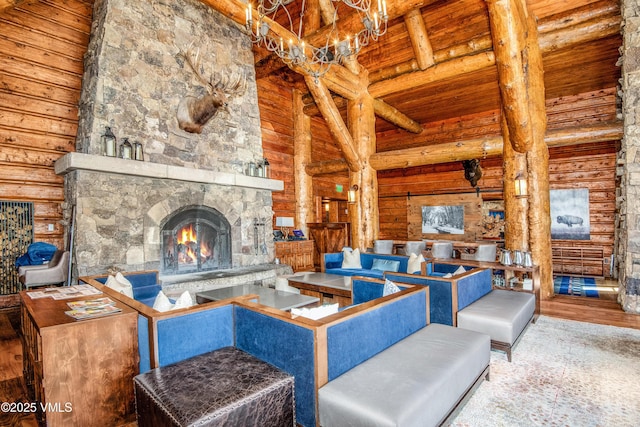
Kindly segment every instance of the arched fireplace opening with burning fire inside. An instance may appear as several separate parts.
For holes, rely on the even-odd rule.
[[[183,274],[231,268],[231,226],[206,206],[185,207],[162,226],[163,273]]]

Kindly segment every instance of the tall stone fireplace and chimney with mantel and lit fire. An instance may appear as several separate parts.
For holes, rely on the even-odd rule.
[[[183,98],[206,93],[188,48],[203,72],[247,81],[200,134],[176,118]],[[273,262],[271,192],[283,183],[244,173],[263,154],[251,41],[235,23],[196,0],[96,0],[79,114],[76,152],[55,166],[75,210],[74,277]],[[118,144],[141,143],[143,161],[105,156],[106,126]]]

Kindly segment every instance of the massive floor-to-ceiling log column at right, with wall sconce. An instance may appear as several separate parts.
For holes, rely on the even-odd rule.
[[[504,115],[504,188],[505,217],[511,224],[523,221],[522,206],[509,195],[514,186],[516,167],[523,162],[515,152],[524,153],[528,170],[528,248],[533,261],[540,266],[541,297],[553,295],[551,263],[551,226],[549,218],[549,153],[544,135],[547,126],[542,56],[537,27],[522,0],[486,0],[491,37],[498,68],[498,83]],[[507,140],[509,144],[507,144]],[[506,148],[510,145],[510,148]],[[515,196],[515,195],[514,195]],[[512,244],[524,244],[524,229],[512,227],[514,235],[505,238]],[[506,234],[506,233],[505,233]],[[510,249],[527,250],[526,246]]]

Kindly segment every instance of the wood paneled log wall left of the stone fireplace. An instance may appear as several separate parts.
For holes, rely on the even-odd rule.
[[[35,240],[59,248],[64,181],[53,163],[75,151],[92,4],[24,2],[0,14],[0,198],[34,202]]]

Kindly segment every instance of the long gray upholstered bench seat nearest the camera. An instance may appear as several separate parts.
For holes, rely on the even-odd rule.
[[[431,324],[322,386],[320,425],[436,426],[489,375],[488,335]]]

